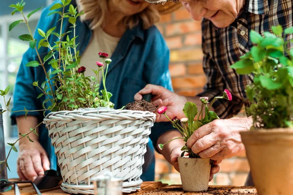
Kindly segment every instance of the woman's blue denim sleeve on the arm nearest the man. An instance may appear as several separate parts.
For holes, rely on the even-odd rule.
[[[150,52],[146,64],[145,76],[147,83],[161,85],[170,91],[173,91],[171,76],[169,73],[169,49],[162,35],[157,28],[151,27],[151,32],[154,35],[151,40]],[[157,140],[167,131],[174,130],[170,122],[156,122],[151,129],[150,138],[157,152]]]

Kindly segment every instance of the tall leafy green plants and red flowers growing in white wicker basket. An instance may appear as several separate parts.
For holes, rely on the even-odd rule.
[[[42,37],[40,40],[34,39],[28,21],[29,18],[34,13],[41,10],[42,7],[35,9],[27,16],[24,16],[23,9],[25,2],[23,2],[23,0],[17,4],[10,5],[10,7],[14,8],[11,14],[14,15],[16,12],[19,12],[23,16],[23,20],[17,20],[11,23],[9,26],[9,31],[11,31],[19,23],[26,24],[28,34],[19,36],[19,39],[28,41],[29,47],[36,50],[38,61],[29,61],[25,66],[36,67],[43,70],[46,77],[45,81],[42,83],[35,81],[31,84],[41,91],[37,98],[41,98],[43,96],[46,98],[42,102],[42,110],[27,110],[26,108],[23,108],[23,110],[11,111],[9,108],[11,99],[5,99],[10,89],[8,86],[5,90],[0,90],[0,96],[4,98],[5,103],[5,109],[3,109],[0,115],[6,111],[25,112],[26,117],[28,112],[43,111],[45,114],[46,111],[56,112],[63,110],[72,111],[79,108],[114,107],[114,104],[110,101],[112,94],[107,92],[105,87],[107,69],[108,65],[111,63],[111,59],[106,59],[108,54],[101,52],[99,53],[101,61],[97,61],[97,69],[93,70],[96,75],[95,77],[85,77],[84,72],[89,70],[86,70],[84,66],[79,65],[81,57],[79,56],[79,51],[77,51],[78,44],[75,41],[77,38],[75,35],[75,29],[77,27],[76,19],[81,16],[83,12],[78,13],[77,8],[70,4],[70,2],[71,0],[61,0],[61,3],[55,3],[50,8],[52,12],[49,13],[48,16],[52,14],[60,15],[61,19],[59,22],[61,22],[61,27],[60,29],[53,27],[47,32],[44,32],[42,29],[37,29],[38,33]],[[65,7],[68,7],[69,9],[65,10]],[[73,37],[69,37],[69,33],[72,33],[72,31],[62,31],[63,20],[68,20],[71,24]],[[56,42],[54,42],[54,45],[51,45],[48,41],[51,36],[55,36],[58,39]],[[43,59],[39,54],[39,49],[41,47],[46,47],[49,50]],[[48,70],[46,69],[47,66],[50,66]],[[100,90],[99,75],[102,75],[102,83],[104,85],[103,90]],[[36,129],[41,124],[42,122],[39,123],[35,128],[31,128],[31,131],[27,134],[20,133],[21,137],[16,142],[8,143],[11,145],[11,149],[7,155],[7,158],[9,157],[11,150],[17,152],[15,144],[21,138],[27,137],[30,141],[32,141],[29,137],[29,134],[34,133],[38,135]],[[5,161],[0,161],[0,163],[5,163],[9,169],[7,158]],[[0,173],[3,171],[4,167],[5,166],[2,166]]]

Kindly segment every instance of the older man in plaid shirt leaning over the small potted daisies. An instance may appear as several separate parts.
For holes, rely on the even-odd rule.
[[[162,3],[166,0],[146,0],[151,3]],[[232,93],[232,101],[217,99],[213,104],[214,111],[220,118],[200,127],[188,139],[187,145],[192,151],[203,158],[221,161],[224,158],[238,156],[245,153],[239,132],[250,129],[252,118],[237,118],[242,106],[246,104],[245,89],[251,83],[252,75],[238,75],[230,66],[239,60],[253,46],[249,34],[251,30],[263,35],[265,31],[272,32],[272,26],[282,25],[283,28],[292,27],[292,0],[180,0],[190,13],[193,20],[202,20],[202,49],[204,54],[203,69],[207,76],[207,83],[203,93],[195,97],[178,96],[167,89],[146,85],[135,95],[140,100],[142,95],[152,93],[155,106],[167,106],[167,116],[184,117],[182,108],[186,101],[200,104],[199,97],[222,96],[224,89]],[[287,39],[292,39],[292,35]],[[289,45],[293,48],[293,44]],[[161,115],[157,121],[167,121]],[[163,134],[158,142],[165,143],[178,132]],[[171,154],[170,162],[177,166],[177,156],[181,154],[183,141],[177,139],[170,143],[162,154],[167,158]],[[171,150],[171,151],[168,151]],[[170,153],[171,152],[171,153]],[[251,185],[249,178],[246,182]]]

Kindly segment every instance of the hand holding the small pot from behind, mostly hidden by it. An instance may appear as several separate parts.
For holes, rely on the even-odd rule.
[[[181,147],[176,147],[172,150],[171,152],[171,164],[174,166],[174,168],[178,171],[179,171],[179,165],[178,165],[178,156],[181,156]],[[209,181],[212,180],[213,178],[213,175],[215,175],[216,173],[218,173],[220,171],[220,166],[219,164],[222,162],[222,160],[213,160],[213,165],[210,169],[210,174],[209,174]]]

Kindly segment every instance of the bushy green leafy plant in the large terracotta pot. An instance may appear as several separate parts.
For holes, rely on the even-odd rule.
[[[251,131],[241,132],[258,195],[293,192],[293,49],[289,34],[272,27],[264,36],[251,31],[251,50],[232,65],[239,74],[253,74],[247,86]],[[292,35],[291,35],[292,36]],[[287,37],[287,38],[286,38]]]

